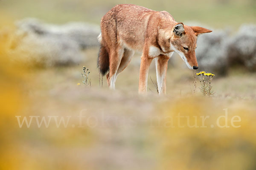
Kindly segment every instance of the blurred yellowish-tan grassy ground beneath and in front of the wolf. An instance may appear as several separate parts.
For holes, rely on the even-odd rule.
[[[103,87],[99,87],[97,50],[84,51],[80,65],[31,69],[26,74],[26,82],[21,86],[26,105],[13,113],[14,116],[71,118],[67,127],[61,124],[57,128],[52,121],[48,128],[44,125],[38,128],[33,121],[31,127],[19,128],[12,116],[6,126],[12,126],[11,134],[15,136],[11,144],[17,147],[11,145],[6,152],[20,167],[52,170],[161,170],[169,167],[242,170],[255,167],[256,74],[230,71],[228,77],[216,75],[212,82],[216,94],[212,98],[203,97],[198,89],[192,95],[192,73],[178,58],[180,64],[170,67],[167,73],[167,96],[158,96],[150,81],[151,91],[147,96],[139,96],[139,55],[118,77],[116,91],[110,91],[105,77]],[[90,68],[91,87],[81,83],[83,65]],[[155,80],[154,64],[149,74]],[[236,124],[241,128],[209,127],[215,125],[215,116],[224,115],[225,108],[229,116],[241,116],[242,122]],[[209,115],[211,119],[206,129],[166,127],[166,117],[175,118],[177,113]],[[85,116],[83,127],[79,127],[79,114]],[[15,156],[12,155],[14,150],[18,153]],[[8,163],[12,159],[2,160]]]

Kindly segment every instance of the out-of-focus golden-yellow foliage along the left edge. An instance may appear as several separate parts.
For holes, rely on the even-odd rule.
[[[22,162],[22,155],[16,148],[18,141],[14,136],[14,118],[26,101],[20,86],[25,69],[11,61],[10,44],[14,26],[12,20],[6,18],[0,18],[0,169],[17,169],[17,164]]]

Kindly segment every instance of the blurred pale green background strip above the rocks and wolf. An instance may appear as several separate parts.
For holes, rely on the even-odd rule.
[[[99,24],[101,17],[120,3],[165,10],[177,21],[200,21],[217,28],[256,22],[256,0],[1,0],[0,10],[14,19],[37,17],[50,23]]]

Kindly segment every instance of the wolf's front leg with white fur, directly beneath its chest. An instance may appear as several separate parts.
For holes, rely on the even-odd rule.
[[[166,94],[166,72],[168,67],[169,57],[160,55],[155,58],[157,71],[157,86],[159,94]]]

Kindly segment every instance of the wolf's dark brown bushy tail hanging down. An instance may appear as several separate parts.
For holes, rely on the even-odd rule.
[[[100,45],[99,48],[98,68],[103,76],[109,71],[109,55],[108,51],[103,45]]]

